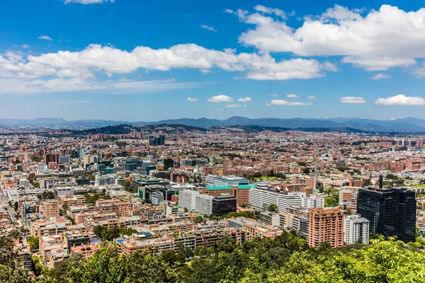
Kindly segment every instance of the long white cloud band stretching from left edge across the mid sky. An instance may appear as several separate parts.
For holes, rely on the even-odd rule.
[[[9,60],[8,57],[13,57]],[[0,76],[57,76],[93,78],[99,72],[125,74],[137,69],[169,71],[175,68],[200,69],[205,72],[218,68],[242,71],[244,78],[256,80],[312,79],[324,76],[329,69],[315,59],[288,59],[276,62],[270,54],[239,53],[235,50],[208,50],[195,44],[174,45],[154,50],[136,47],[131,52],[111,46],[89,45],[79,52],[19,57],[0,55]]]

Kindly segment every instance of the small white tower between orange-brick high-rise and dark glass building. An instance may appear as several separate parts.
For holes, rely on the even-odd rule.
[[[348,215],[344,218],[344,243],[352,244],[361,241],[369,243],[369,220],[360,215]]]

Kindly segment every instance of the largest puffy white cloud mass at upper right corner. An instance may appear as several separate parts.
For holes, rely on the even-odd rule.
[[[235,11],[240,21],[254,25],[239,42],[261,53],[290,52],[300,56],[343,56],[343,63],[370,71],[409,67],[425,58],[425,8],[403,11],[382,5],[379,10],[350,10],[335,5],[322,15],[305,17],[300,27],[288,25],[266,7]],[[259,13],[261,11],[262,13]]]

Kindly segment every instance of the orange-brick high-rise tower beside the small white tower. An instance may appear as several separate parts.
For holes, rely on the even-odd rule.
[[[307,221],[310,247],[319,248],[321,243],[329,243],[332,248],[344,246],[344,213],[340,209],[311,209]]]

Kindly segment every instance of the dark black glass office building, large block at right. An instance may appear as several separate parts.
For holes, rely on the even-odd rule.
[[[357,213],[370,221],[370,233],[404,242],[416,237],[416,199],[405,188],[365,187],[358,191]]]

